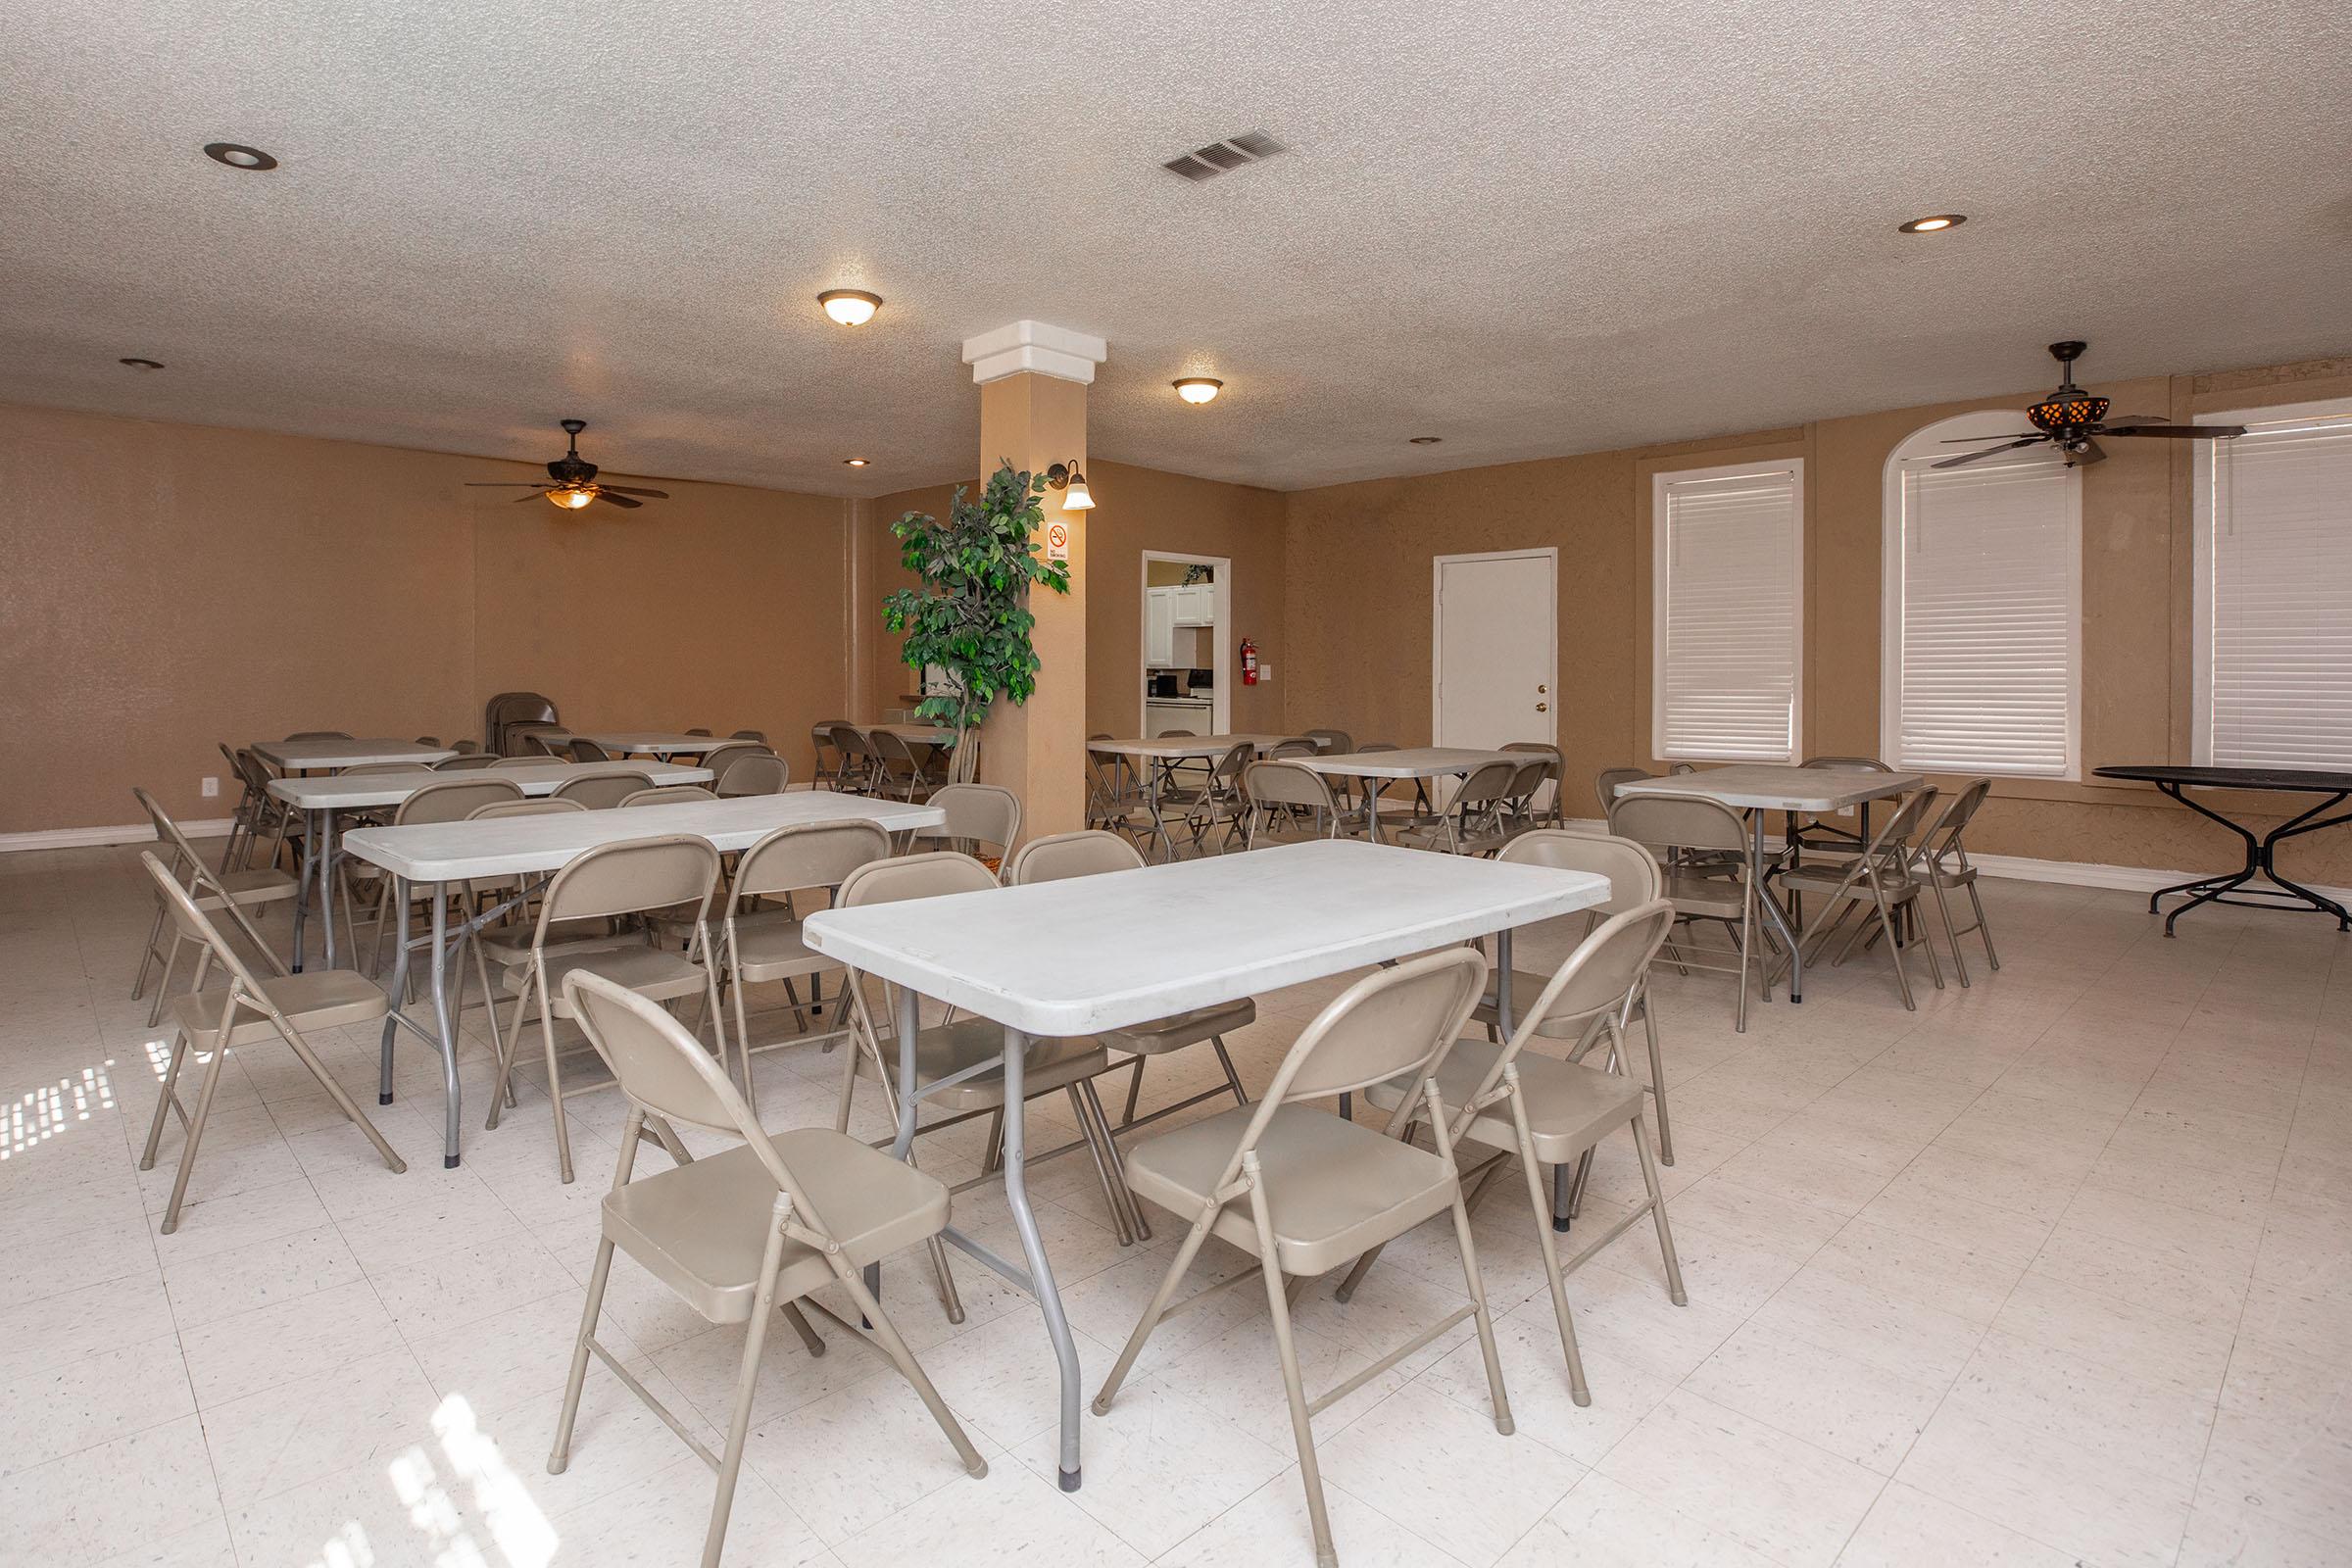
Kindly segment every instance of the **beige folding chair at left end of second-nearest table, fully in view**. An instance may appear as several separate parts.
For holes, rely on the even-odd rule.
[[[198,945],[195,959],[195,990],[186,997],[172,1001],[172,1060],[165,1065],[162,1074],[162,1098],[155,1103],[155,1119],[148,1124],[146,1150],[139,1152],[139,1168],[155,1168],[155,1150],[162,1145],[165,1114],[176,1114],[181,1126],[188,1128],[188,1138],[179,1150],[179,1175],[172,1180],[172,1197],[162,1211],[162,1234],[179,1229],[179,1206],[188,1197],[188,1175],[195,1171],[195,1150],[205,1143],[205,1121],[212,1117],[212,1095],[221,1086],[221,1065],[228,1053],[240,1046],[254,1046],[263,1039],[282,1039],[301,1058],[301,1065],[310,1070],[318,1086],[327,1091],[350,1121],[367,1133],[367,1140],[376,1145],[376,1154],[393,1171],[407,1171],[393,1145],[383,1140],[376,1124],[367,1119],[343,1086],[334,1081],[327,1065],[318,1060],[310,1041],[303,1039],[303,1030],[339,1030],[350,1025],[379,1023],[386,1011],[390,1011],[390,999],[383,994],[381,985],[372,985],[362,976],[348,969],[308,969],[299,976],[289,976],[285,964],[275,952],[261,945],[259,933],[245,919],[245,910],[226,900],[219,889],[209,891],[219,900],[219,907],[228,910],[230,919],[245,931],[247,940],[261,947],[261,957],[270,961],[275,971],[270,978],[256,978],[245,959],[235,954],[221,931],[205,919],[205,910],[198,907],[188,889],[179,886],[179,879],[165,867],[153,851],[139,851],[141,865],[146,865],[148,877],[155,879],[155,896],[162,898],[165,912],[179,933]],[[209,886],[212,872],[198,867],[198,886]],[[228,985],[216,985],[205,990],[205,976],[219,964],[228,971]],[[179,1103],[179,1074],[186,1067],[188,1056],[207,1056],[205,1063],[205,1086],[195,1095],[195,1114]]]

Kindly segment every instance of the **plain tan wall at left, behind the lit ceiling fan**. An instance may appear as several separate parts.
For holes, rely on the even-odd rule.
[[[574,724],[757,726],[804,773],[844,698],[849,503],[661,480],[670,501],[560,515],[463,489],[527,477],[0,404],[0,832],[139,820],[132,785],[221,816],[219,741],[475,736],[501,689]]]

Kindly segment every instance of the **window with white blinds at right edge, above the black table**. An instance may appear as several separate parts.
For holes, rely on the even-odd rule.
[[[2352,769],[2352,402],[2201,423],[2197,762]]]

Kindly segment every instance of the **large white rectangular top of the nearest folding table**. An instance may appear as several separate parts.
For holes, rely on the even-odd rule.
[[[811,947],[1030,1034],[1256,997],[1609,898],[1548,865],[1312,839],[1134,872],[821,910]]]

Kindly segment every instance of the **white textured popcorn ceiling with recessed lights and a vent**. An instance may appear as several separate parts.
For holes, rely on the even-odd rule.
[[[1040,317],[1096,456],[1291,489],[2352,348],[2343,0],[7,12],[0,400],[880,494]]]

